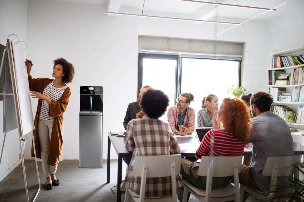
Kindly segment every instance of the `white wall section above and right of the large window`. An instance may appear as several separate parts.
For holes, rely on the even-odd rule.
[[[232,21],[219,19],[218,21]],[[260,68],[269,65],[267,53],[269,52],[271,35],[267,33],[267,23],[261,21],[249,21],[243,26],[230,29],[222,34],[215,36],[217,33],[229,28],[227,25],[202,24],[195,25],[189,22],[169,21],[160,19],[140,18],[139,35],[152,36],[170,36],[178,38],[195,38],[219,41],[236,41],[244,42],[245,55],[244,61],[252,61],[242,65],[242,69]],[[174,51],[174,50],[172,50]],[[246,66],[245,66],[246,65]],[[248,70],[247,72],[249,72]],[[242,72],[243,73],[243,72]],[[266,68],[250,71],[250,77],[247,77],[247,83],[242,75],[242,85],[250,92],[267,91],[268,73]],[[256,82],[259,78],[261,82]]]

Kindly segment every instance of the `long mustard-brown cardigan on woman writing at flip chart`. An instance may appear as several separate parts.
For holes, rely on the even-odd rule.
[[[31,75],[28,76],[29,79],[29,90],[30,91],[37,91],[41,94],[43,93],[44,88],[47,85],[54,81],[54,79],[50,78],[32,78]],[[61,98],[58,101],[51,101],[50,109],[49,109],[49,116],[54,117],[52,133],[51,133],[51,140],[50,140],[50,147],[49,147],[49,157],[47,159],[47,164],[51,166],[55,166],[59,162],[61,149],[62,149],[62,121],[63,121],[63,113],[67,108],[67,104],[70,100],[71,96],[71,88],[67,87]],[[34,140],[35,140],[35,148],[36,148],[36,155],[37,158],[41,159],[41,150],[40,150],[40,142],[38,137],[38,122],[39,122],[39,114],[41,110],[42,99],[38,100],[37,112],[34,120],[35,129],[34,129]],[[34,147],[32,143],[32,151],[31,156],[35,157],[34,155]]]

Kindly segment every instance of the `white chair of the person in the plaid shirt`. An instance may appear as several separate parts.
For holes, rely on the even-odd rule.
[[[131,195],[138,202],[158,201],[177,202],[176,179],[175,176],[181,170],[181,154],[161,155],[161,156],[136,156],[133,163],[133,175],[141,177],[140,194],[135,194],[130,188],[126,189],[125,202],[129,201]],[[167,177],[171,176],[172,194],[162,197],[145,197],[147,177]]]

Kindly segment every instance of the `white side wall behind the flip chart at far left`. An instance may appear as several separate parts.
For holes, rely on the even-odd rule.
[[[0,43],[6,45],[6,38],[16,34],[20,41],[26,41],[27,0],[0,0]],[[11,36],[17,42],[15,36]],[[23,46],[22,46],[23,47]],[[0,53],[1,55],[3,53]],[[4,133],[2,133],[3,101],[0,101],[0,150],[2,149]],[[6,134],[3,155],[0,164],[0,181],[8,175],[21,161],[19,160],[19,134],[15,129]]]

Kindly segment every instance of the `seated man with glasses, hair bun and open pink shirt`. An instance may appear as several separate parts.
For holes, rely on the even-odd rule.
[[[194,109],[189,107],[194,96],[191,93],[182,93],[176,98],[177,104],[168,110],[168,122],[174,134],[191,134],[194,130],[195,113]]]

